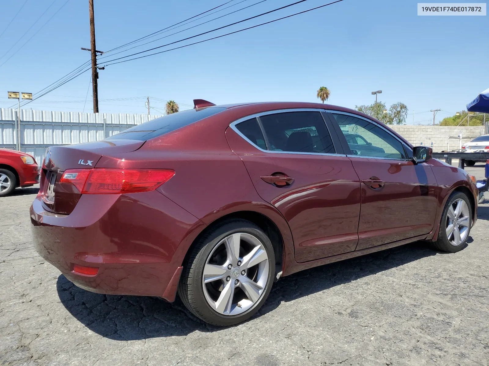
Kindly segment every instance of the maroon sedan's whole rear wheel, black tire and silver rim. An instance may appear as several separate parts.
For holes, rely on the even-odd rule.
[[[212,325],[235,325],[253,316],[273,284],[275,254],[267,235],[242,219],[204,234],[184,264],[178,296]]]

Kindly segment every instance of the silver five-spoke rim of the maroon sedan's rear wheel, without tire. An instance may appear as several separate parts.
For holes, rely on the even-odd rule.
[[[208,255],[202,287],[208,305],[222,315],[238,315],[258,304],[268,281],[268,255],[247,233],[226,236]]]

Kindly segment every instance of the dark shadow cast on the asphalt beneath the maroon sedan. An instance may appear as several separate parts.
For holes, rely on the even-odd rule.
[[[255,317],[275,310],[282,301],[295,300],[435,254],[424,243],[412,243],[290,275],[273,285],[267,302]],[[76,319],[90,330],[114,340],[220,329],[195,318],[178,299],[168,304],[154,297],[96,294],[73,285],[63,275],[58,277],[57,290],[62,304]]]

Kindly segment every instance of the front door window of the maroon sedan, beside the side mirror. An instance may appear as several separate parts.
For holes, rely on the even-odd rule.
[[[372,122],[332,113],[353,155],[407,159],[402,143]]]

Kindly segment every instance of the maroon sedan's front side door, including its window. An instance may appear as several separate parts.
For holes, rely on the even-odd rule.
[[[431,232],[437,183],[431,167],[411,162],[409,147],[377,123],[349,113],[328,113],[338,135],[361,136],[366,144],[344,149],[361,182],[357,250]],[[338,130],[337,130],[338,131]]]

